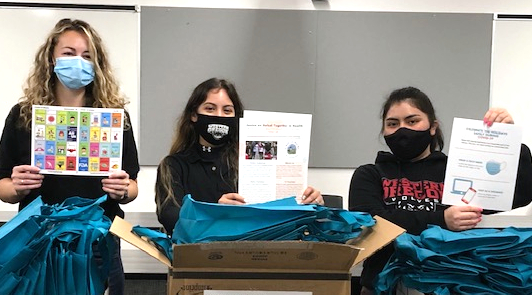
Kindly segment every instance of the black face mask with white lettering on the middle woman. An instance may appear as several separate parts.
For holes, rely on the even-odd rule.
[[[194,130],[212,145],[221,145],[229,141],[236,133],[238,118],[218,117],[198,114],[193,123]]]

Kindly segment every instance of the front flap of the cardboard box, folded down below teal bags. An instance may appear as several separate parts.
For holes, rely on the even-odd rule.
[[[359,249],[305,241],[227,241],[174,245],[174,270],[349,272]]]

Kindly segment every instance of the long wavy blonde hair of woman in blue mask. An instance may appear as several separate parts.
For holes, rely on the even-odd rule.
[[[31,129],[32,105],[54,105],[56,83],[60,83],[54,73],[54,49],[59,37],[66,31],[76,31],[87,36],[89,53],[94,66],[94,81],[85,87],[86,105],[94,108],[121,108],[128,103],[120,94],[120,87],[112,73],[107,52],[100,35],[82,20],[62,19],[53,28],[46,42],[41,45],[35,56],[33,69],[24,87],[24,96],[20,98],[20,124]],[[130,128],[129,118],[125,120],[126,129]]]

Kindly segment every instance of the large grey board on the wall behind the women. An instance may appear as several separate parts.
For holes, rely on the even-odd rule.
[[[158,118],[140,121],[141,165],[167,155],[206,77],[234,82],[246,109],[311,113],[311,168],[352,169],[385,149],[379,110],[393,89],[429,93],[444,137],[445,122],[489,104],[493,14],[143,6],[140,19],[140,116]]]

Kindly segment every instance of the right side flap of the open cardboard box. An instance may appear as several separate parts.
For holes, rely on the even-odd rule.
[[[355,259],[359,264],[382,247],[388,245],[399,235],[405,232],[405,229],[394,223],[375,215],[375,225],[365,230],[361,236],[351,241],[351,245],[360,248],[360,252]]]

